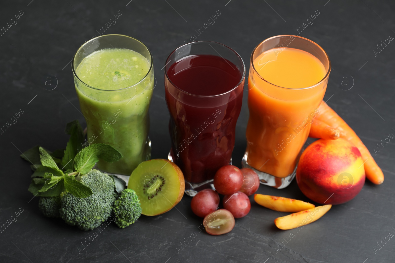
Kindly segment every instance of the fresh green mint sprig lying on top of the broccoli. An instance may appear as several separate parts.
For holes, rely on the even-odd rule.
[[[60,150],[55,151],[56,157],[61,157],[61,160],[40,146],[33,147],[21,155],[34,166],[31,176],[33,178],[28,188],[32,194],[59,196],[67,190],[79,198],[88,197],[93,194],[92,190],[79,182],[79,175],[92,170],[99,159],[114,162],[122,157],[117,149],[107,144],[91,144],[81,149],[84,134],[78,121],[68,123],[65,131],[70,134],[70,139],[63,156],[60,156]],[[59,168],[60,166],[62,168]]]

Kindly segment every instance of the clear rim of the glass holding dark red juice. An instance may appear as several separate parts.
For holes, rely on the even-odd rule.
[[[192,93],[186,92],[186,91],[182,90],[181,88],[179,88],[178,86],[176,86],[176,85],[171,81],[171,79],[169,78],[169,76],[167,75],[166,65],[167,65],[167,63],[168,63],[168,60],[169,60],[170,56],[173,55],[174,52],[175,52],[177,49],[179,49],[179,48],[181,48],[181,47],[184,47],[184,46],[187,46],[187,45],[192,45],[192,44],[195,44],[195,43],[214,43],[214,44],[218,44],[218,45],[221,45],[221,46],[223,46],[223,47],[226,47],[226,48],[228,48],[231,52],[233,52],[233,53],[237,56],[237,58],[239,58],[239,60],[241,60],[241,63],[243,64],[243,74],[242,74],[242,76],[241,76],[241,78],[240,78],[239,83],[237,83],[236,86],[234,86],[233,88],[229,89],[228,91],[226,91],[226,92],[224,92],[224,93],[216,94],[216,95],[196,95],[196,94],[192,94]],[[221,56],[221,55],[220,55],[220,56]],[[210,97],[219,97],[219,96],[225,95],[225,94],[230,93],[231,91],[235,90],[238,86],[240,86],[240,84],[243,82],[243,80],[244,80],[244,78],[245,78],[245,75],[246,75],[246,66],[245,66],[245,63],[244,63],[244,61],[243,61],[243,58],[241,58],[241,56],[239,55],[239,53],[237,53],[235,50],[233,50],[232,48],[228,47],[227,45],[224,45],[224,44],[222,44],[222,43],[215,42],[215,41],[199,40],[199,41],[192,41],[192,42],[190,42],[190,43],[186,43],[186,44],[184,44],[184,45],[181,45],[181,46],[177,47],[177,48],[176,48],[175,50],[173,50],[173,51],[169,54],[169,56],[167,56],[167,58],[166,58],[165,76],[166,76],[167,80],[168,80],[175,88],[177,88],[177,90],[181,91],[182,93],[184,93],[184,94],[186,94],[186,95],[188,95],[188,96],[201,97],[201,98],[210,98]]]

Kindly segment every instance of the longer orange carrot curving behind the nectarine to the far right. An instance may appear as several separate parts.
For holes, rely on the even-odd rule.
[[[340,131],[340,137],[352,142],[361,152],[362,159],[365,161],[364,168],[367,179],[376,185],[383,183],[384,174],[382,170],[378,167],[367,147],[350,126],[348,126],[348,124],[324,101],[321,102],[318,110],[320,110],[320,112],[317,114],[314,121],[323,121],[327,125],[338,129]]]

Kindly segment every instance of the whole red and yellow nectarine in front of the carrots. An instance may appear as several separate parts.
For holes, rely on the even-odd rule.
[[[348,202],[365,183],[361,153],[343,138],[317,140],[302,153],[296,182],[303,194],[317,203]]]

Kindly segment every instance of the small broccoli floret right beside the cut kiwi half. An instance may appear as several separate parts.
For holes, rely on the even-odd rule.
[[[132,189],[125,189],[114,202],[114,215],[117,218],[115,224],[120,228],[126,228],[133,224],[141,215],[139,197]]]

